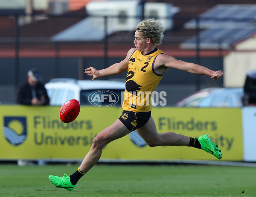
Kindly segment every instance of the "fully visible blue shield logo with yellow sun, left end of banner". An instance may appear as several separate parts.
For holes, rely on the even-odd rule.
[[[23,143],[26,133],[26,117],[4,117],[3,136],[13,146]]]

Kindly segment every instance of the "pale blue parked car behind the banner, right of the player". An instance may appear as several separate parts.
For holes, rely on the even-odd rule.
[[[177,107],[243,107],[243,88],[205,88],[183,98]]]

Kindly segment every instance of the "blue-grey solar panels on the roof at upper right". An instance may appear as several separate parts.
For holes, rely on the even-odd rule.
[[[193,36],[184,41],[182,48],[195,49],[197,39],[200,39],[200,48],[229,49],[256,34],[256,4],[218,4],[199,17],[198,26],[204,31],[198,38]],[[195,29],[196,26],[195,19],[184,24],[187,29]]]

